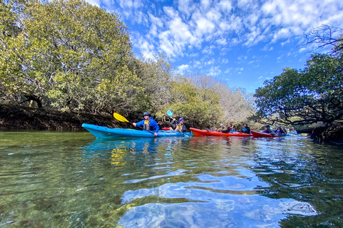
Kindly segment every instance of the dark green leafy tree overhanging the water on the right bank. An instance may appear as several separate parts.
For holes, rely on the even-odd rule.
[[[342,57],[316,54],[302,71],[286,68],[254,95],[257,120],[284,124],[332,123],[343,118]]]

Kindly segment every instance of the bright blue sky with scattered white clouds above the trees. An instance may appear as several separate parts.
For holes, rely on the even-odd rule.
[[[87,1],[121,16],[137,56],[165,53],[175,73],[212,76],[249,93],[283,68],[304,68],[315,51],[301,46],[309,29],[343,28],[342,0]]]

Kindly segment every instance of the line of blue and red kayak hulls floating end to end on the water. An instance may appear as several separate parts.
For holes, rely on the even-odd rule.
[[[134,130],[126,128],[106,128],[91,124],[82,124],[82,127],[92,133],[96,138],[156,138],[154,133],[148,130]],[[215,130],[200,130],[197,128],[189,128],[195,136],[236,136],[236,137],[284,137],[284,135],[271,135],[268,133],[260,133],[257,131],[251,131],[251,134],[246,133],[220,133]],[[189,133],[178,133],[174,130],[159,130],[157,137],[187,137]],[[290,135],[292,136],[292,135]]]

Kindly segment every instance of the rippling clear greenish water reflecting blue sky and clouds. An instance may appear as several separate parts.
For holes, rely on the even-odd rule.
[[[343,227],[343,149],[307,137],[0,132],[0,227]]]

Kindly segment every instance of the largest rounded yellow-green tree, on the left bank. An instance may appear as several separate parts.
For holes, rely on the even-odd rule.
[[[127,66],[131,42],[119,16],[78,0],[29,1],[18,14],[21,33],[1,36],[6,95],[35,95],[61,110],[111,113],[141,91]]]

